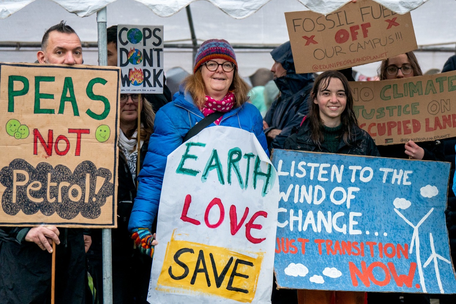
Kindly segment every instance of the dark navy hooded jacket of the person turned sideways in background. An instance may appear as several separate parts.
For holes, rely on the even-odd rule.
[[[296,74],[290,41],[272,50],[271,56],[276,62],[282,64],[286,75],[274,80],[280,90],[280,96],[272,103],[264,117],[264,121],[269,126],[264,129],[264,134],[272,129],[282,130],[269,143],[269,149],[283,149],[285,139],[290,136],[291,129],[298,128],[304,116],[307,115],[307,99],[310,96],[314,77],[312,73]]]

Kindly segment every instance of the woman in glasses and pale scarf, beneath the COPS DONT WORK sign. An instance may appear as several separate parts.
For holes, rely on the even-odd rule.
[[[140,142],[142,166],[150,135],[154,131],[152,104],[138,94],[120,94],[119,166],[117,188],[117,228],[111,229],[113,303],[147,303],[152,261],[136,253],[128,231],[128,221],[136,197],[137,143]],[[141,132],[138,134],[138,103],[141,103]],[[152,228],[152,231],[155,230]],[[97,290],[98,303],[103,303],[103,269],[101,229],[92,229],[92,246],[87,257],[89,273]],[[136,279],[138,279],[136,281]],[[140,285],[138,285],[140,284]]]

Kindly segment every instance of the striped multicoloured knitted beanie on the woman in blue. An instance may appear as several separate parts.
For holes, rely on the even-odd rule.
[[[217,58],[231,61],[236,67],[238,67],[238,62],[236,62],[236,55],[234,54],[233,47],[229,44],[228,41],[224,39],[209,39],[201,44],[197,52],[193,74],[199,67],[201,67],[204,62]]]

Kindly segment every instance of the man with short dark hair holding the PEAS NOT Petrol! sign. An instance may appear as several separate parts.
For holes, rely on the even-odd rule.
[[[61,21],[49,28],[36,54],[40,63],[82,64],[82,46],[74,30]],[[56,247],[55,301],[84,304],[85,252],[90,236],[80,228],[1,227],[0,302],[47,303],[51,297],[52,241]]]

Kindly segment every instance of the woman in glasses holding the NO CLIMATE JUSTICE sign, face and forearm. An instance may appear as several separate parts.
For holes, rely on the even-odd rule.
[[[422,76],[420,65],[413,52],[407,52],[382,61],[378,69],[380,80]],[[403,144],[378,146],[378,152],[383,157],[412,160],[441,160],[445,161],[443,144],[439,140],[415,143],[409,140]]]

